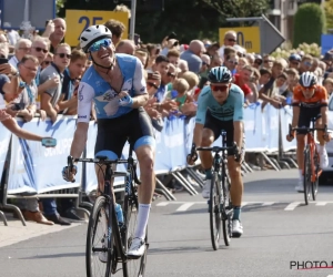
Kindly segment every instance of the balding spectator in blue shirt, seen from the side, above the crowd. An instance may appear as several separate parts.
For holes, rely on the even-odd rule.
[[[189,64],[189,70],[198,74],[200,72],[202,61],[201,55],[205,52],[204,45],[200,40],[191,41],[189,49],[181,54],[181,59]]]

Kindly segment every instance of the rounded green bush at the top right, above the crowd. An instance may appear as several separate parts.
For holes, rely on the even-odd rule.
[[[316,3],[302,4],[294,19],[294,48],[304,42],[321,44],[321,35],[325,33],[325,13],[320,6]]]

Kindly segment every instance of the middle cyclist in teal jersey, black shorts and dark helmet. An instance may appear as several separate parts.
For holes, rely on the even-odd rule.
[[[210,146],[218,140],[221,131],[226,131],[226,145],[233,142],[240,148],[241,158],[244,146],[243,131],[243,104],[244,93],[232,84],[232,73],[225,66],[216,66],[208,74],[210,85],[204,86],[198,99],[198,112],[195,120],[193,143],[196,146]],[[240,237],[243,227],[240,222],[243,181],[241,175],[241,161],[235,161],[233,153],[228,153],[228,170],[231,178],[231,201],[234,205],[232,235]],[[200,152],[202,167],[205,170],[205,184],[202,189],[204,198],[210,197],[212,179],[212,154],[206,151]],[[193,164],[193,156],[188,158]]]

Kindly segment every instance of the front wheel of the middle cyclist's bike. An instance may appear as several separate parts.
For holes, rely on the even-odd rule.
[[[219,175],[214,172],[212,183],[211,183],[211,197],[210,197],[210,227],[211,227],[211,239],[214,250],[218,250],[220,247],[220,237],[221,237],[221,184]]]

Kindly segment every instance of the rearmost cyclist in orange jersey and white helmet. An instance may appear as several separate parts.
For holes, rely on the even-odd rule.
[[[311,119],[316,117],[315,127],[323,127],[327,124],[327,92],[326,89],[317,84],[316,76],[313,72],[306,71],[300,76],[300,84],[294,88],[293,94],[293,119],[292,127],[310,127]],[[297,164],[299,164],[299,184],[295,191],[303,192],[303,151],[305,147],[306,131],[300,131],[296,134],[297,140]],[[291,142],[293,134],[287,134],[286,140]],[[321,168],[327,167],[329,157],[325,148],[325,141],[330,141],[329,134],[317,132],[317,151],[320,154]]]

